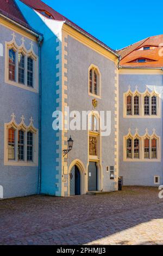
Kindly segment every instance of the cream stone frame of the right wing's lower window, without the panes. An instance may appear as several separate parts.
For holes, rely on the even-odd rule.
[[[145,158],[145,140],[149,139],[149,158]],[[127,140],[131,140],[131,158],[127,158]],[[139,139],[139,158],[134,158],[134,140]],[[156,158],[152,158],[152,140],[156,140]],[[155,129],[153,129],[153,134],[149,135],[148,130],[143,136],[140,136],[138,129],[136,129],[135,134],[129,132],[126,136],[123,136],[123,161],[124,162],[161,162],[161,138],[156,135]]]

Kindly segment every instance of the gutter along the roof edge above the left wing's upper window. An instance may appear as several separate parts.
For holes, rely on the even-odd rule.
[[[3,19],[9,21],[10,23],[14,23],[17,27],[20,27],[21,29],[23,29],[24,31],[28,32],[29,34],[34,35],[34,37],[39,38],[40,35],[42,36],[42,34],[35,32],[32,28],[27,28],[25,25],[21,25],[20,23],[18,23],[18,21],[14,21],[11,19],[11,17],[9,17],[10,15],[5,13],[4,11],[2,11],[0,9],[0,17],[3,17]],[[3,14],[2,14],[3,13]],[[22,22],[23,23],[23,22]],[[43,37],[43,36],[42,36]]]

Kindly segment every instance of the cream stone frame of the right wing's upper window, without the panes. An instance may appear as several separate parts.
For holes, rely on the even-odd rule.
[[[127,115],[127,97],[131,96],[131,115]],[[134,97],[139,96],[139,115],[134,115]],[[149,97],[149,115],[145,115],[145,97]],[[156,115],[152,115],[152,97],[156,97]],[[124,118],[161,118],[161,96],[155,91],[149,92],[148,88],[145,92],[137,89],[133,92],[130,89],[123,93],[123,117]]]

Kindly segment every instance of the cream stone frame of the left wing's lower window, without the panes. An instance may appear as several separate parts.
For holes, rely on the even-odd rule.
[[[15,115],[12,114],[12,119],[9,123],[4,124],[4,165],[16,165],[16,166],[38,166],[38,152],[39,152],[39,135],[38,129],[33,125],[33,119],[30,118],[29,126],[24,123],[24,117],[21,117],[21,123],[17,124],[15,121]],[[15,159],[8,159],[8,134],[9,129],[15,129]],[[24,132],[24,160],[18,160],[18,131]],[[33,133],[33,161],[27,160],[27,133]],[[17,152],[17,153],[16,153]]]

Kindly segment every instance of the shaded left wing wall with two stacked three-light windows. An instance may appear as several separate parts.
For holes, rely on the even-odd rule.
[[[0,185],[3,198],[37,193],[39,46],[37,34],[0,16]],[[23,21],[22,21],[23,23]]]

